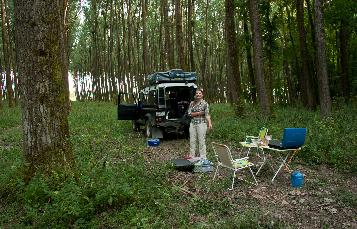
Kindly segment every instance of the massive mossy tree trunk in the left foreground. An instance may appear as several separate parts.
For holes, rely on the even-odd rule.
[[[15,0],[25,180],[38,170],[73,169],[66,103],[64,2]]]

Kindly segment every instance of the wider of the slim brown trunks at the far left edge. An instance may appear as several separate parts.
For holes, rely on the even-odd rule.
[[[2,47],[4,48],[4,61],[5,61],[5,74],[6,74],[6,92],[9,98],[9,107],[14,107],[14,90],[12,90],[10,60],[9,60],[9,52],[7,49],[7,41],[6,41],[4,0],[1,0],[1,25],[2,25]]]

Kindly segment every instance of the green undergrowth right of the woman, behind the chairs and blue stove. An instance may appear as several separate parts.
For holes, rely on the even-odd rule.
[[[357,169],[357,97],[344,103],[334,99],[332,112],[321,121],[320,111],[309,111],[297,104],[292,109],[287,104],[275,104],[275,114],[264,120],[259,106],[247,104],[244,118],[231,118],[230,104],[213,104],[210,107],[213,131],[208,136],[214,141],[241,142],[245,135],[258,136],[260,128],[268,128],[268,135],[282,138],[284,128],[305,127],[306,140],[296,154],[307,164],[328,164],[342,172]]]

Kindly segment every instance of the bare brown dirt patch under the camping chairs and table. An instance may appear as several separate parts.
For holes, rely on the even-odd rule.
[[[240,145],[233,142],[225,142],[225,144],[230,147],[233,159],[237,159],[241,150]],[[207,144],[206,147],[207,159],[213,162],[213,172],[207,172],[205,175],[213,179],[217,161],[213,160],[214,153],[211,145]],[[146,157],[149,163],[154,160],[170,161],[170,159],[187,157],[189,145],[185,137],[176,136],[175,139],[171,136],[161,139],[160,146],[148,146],[147,150],[153,153]],[[246,154],[247,150],[244,150],[241,156]],[[256,149],[250,151],[249,157],[249,161],[254,163],[253,173],[256,174],[263,160],[258,157]],[[277,171],[281,164],[278,156],[272,153],[269,161]],[[291,175],[285,171],[285,166],[281,168],[275,180],[271,181],[275,172],[266,165],[256,175],[257,186],[236,179],[232,191],[223,190],[218,193],[218,196],[228,198],[240,210],[248,209],[250,206],[246,200],[250,200],[250,203],[259,209],[262,220],[283,220],[288,225],[298,228],[357,228],[356,177],[348,173],[333,172],[323,165],[312,167],[302,161],[296,161],[298,160],[291,162],[289,167],[304,174],[302,187],[294,187],[290,184]],[[225,181],[230,174],[231,170],[219,167],[215,182]],[[199,181],[200,173],[177,171],[169,176],[173,185],[188,191],[182,191],[182,195],[206,195],[210,199],[216,198],[212,193],[196,189],[195,182],[197,184]],[[248,169],[238,170],[236,176],[253,181]],[[191,218],[197,221],[199,216],[192,215]]]

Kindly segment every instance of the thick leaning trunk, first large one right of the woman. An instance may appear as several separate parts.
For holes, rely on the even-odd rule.
[[[226,0],[226,30],[227,30],[227,49],[228,49],[228,65],[231,68],[231,93],[234,103],[235,115],[242,117],[244,115],[244,107],[240,99],[243,96],[241,76],[239,71],[239,60],[237,53],[237,38],[236,27],[234,23],[234,1]]]

